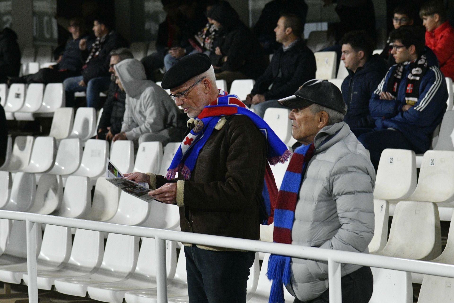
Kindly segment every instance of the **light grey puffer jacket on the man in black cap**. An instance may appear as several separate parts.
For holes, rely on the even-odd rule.
[[[368,253],[375,169],[366,150],[344,122],[321,129],[314,145],[296,204],[292,244]],[[292,258],[291,268],[287,289],[299,300],[317,298],[328,288],[327,262]],[[342,276],[359,268],[342,264]]]

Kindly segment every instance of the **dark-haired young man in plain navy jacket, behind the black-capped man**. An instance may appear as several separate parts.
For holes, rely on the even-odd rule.
[[[375,43],[364,30],[354,30],[341,40],[342,56],[348,76],[342,82],[342,96],[347,104],[344,121],[355,128],[375,128],[369,100],[385,77],[388,66],[380,55],[372,55]]]

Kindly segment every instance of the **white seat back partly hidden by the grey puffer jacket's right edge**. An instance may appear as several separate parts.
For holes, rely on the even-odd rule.
[[[375,228],[374,236],[369,243],[369,253],[376,253],[382,250],[388,239],[388,222],[390,215],[390,204],[386,200],[374,199]]]

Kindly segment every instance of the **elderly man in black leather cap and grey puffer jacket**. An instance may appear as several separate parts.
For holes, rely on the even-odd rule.
[[[290,174],[282,181],[286,186],[281,186],[277,199],[274,241],[368,253],[374,234],[375,170],[364,146],[343,122],[345,103],[341,91],[326,80],[309,80],[295,95],[279,102],[291,109],[293,138],[303,146],[294,151],[288,166]],[[295,164],[301,154],[306,169],[296,174],[295,167],[305,167]],[[279,224],[286,218],[278,220],[276,214],[282,208],[281,194],[290,188],[298,190],[293,193],[294,219],[284,224],[291,226],[288,239],[278,237],[279,229],[284,227]],[[292,196],[286,197],[288,205]],[[286,275],[291,281],[286,288],[295,302],[329,302],[328,263],[298,258],[291,262],[291,273]],[[373,287],[370,268],[341,264],[341,273],[342,302],[369,302]],[[268,277],[270,274],[268,267]],[[271,292],[273,296],[278,295]]]

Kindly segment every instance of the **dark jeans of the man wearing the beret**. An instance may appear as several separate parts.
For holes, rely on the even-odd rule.
[[[190,303],[245,303],[255,252],[184,247]]]

